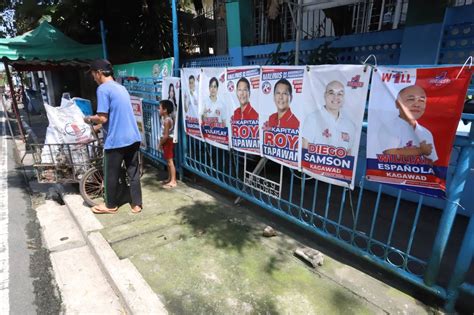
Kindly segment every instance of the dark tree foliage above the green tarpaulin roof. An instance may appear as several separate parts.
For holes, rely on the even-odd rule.
[[[0,1],[2,8],[14,10],[13,31],[17,34],[35,28],[46,17],[65,35],[84,44],[101,42],[102,20],[113,63],[161,59],[173,54],[169,0],[10,0]]]

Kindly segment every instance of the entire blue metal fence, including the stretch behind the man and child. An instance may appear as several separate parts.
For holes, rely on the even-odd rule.
[[[225,66],[227,60],[222,62],[218,66]],[[166,164],[154,145],[159,140],[157,105],[161,80],[139,78],[125,81],[124,85],[132,95],[143,98],[148,144],[143,150],[145,156]],[[474,115],[463,118],[474,122]],[[456,138],[454,151],[459,154],[454,155],[457,160],[451,163],[449,172],[454,176],[448,178],[448,200],[440,211],[430,206],[435,200],[429,197],[413,199],[413,194],[401,190],[394,196],[387,195],[381,184],[375,190],[367,189],[363,163],[359,165],[362,169],[356,179],[358,185],[351,191],[271,161],[259,163],[260,157],[216,148],[187,136],[181,125],[178,169],[197,174],[446,300],[448,310],[453,309],[460,292],[474,296],[474,216],[457,213],[460,194],[474,163],[474,130],[469,136]],[[365,158],[364,143],[362,139],[361,161]],[[246,170],[252,171],[257,165],[263,165],[258,172],[262,178],[275,182],[280,176],[284,178],[280,198],[265,193],[274,187],[248,185]]]

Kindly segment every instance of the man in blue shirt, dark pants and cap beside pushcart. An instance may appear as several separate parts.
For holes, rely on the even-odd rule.
[[[141,136],[138,131],[128,91],[115,82],[113,69],[105,59],[95,60],[90,65],[97,88],[97,114],[84,118],[87,123],[102,124],[104,143],[104,188],[105,205],[91,208],[94,213],[115,213],[120,206],[123,192],[119,191],[122,162],[125,162],[130,183],[133,213],[142,209],[140,167],[138,154]]]

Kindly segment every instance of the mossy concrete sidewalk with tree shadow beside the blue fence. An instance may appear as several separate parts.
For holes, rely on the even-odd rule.
[[[234,206],[229,198],[182,182],[163,189],[159,180],[165,176],[147,168],[140,214],[127,205],[116,214],[94,215],[79,196],[64,200],[73,213],[81,213],[78,223],[89,238],[106,240],[90,242],[100,247],[94,251],[100,256],[110,245],[118,256],[110,263],[105,259],[103,266],[113,269],[129,260],[170,314],[435,312],[331,257],[317,269],[309,267],[293,255],[303,245],[283,227],[273,225],[278,235],[265,238],[269,222],[245,205]]]

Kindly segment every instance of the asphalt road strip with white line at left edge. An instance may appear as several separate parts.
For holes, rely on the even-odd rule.
[[[58,314],[60,294],[32,208],[43,197],[30,194],[2,111],[0,136],[0,313]]]

